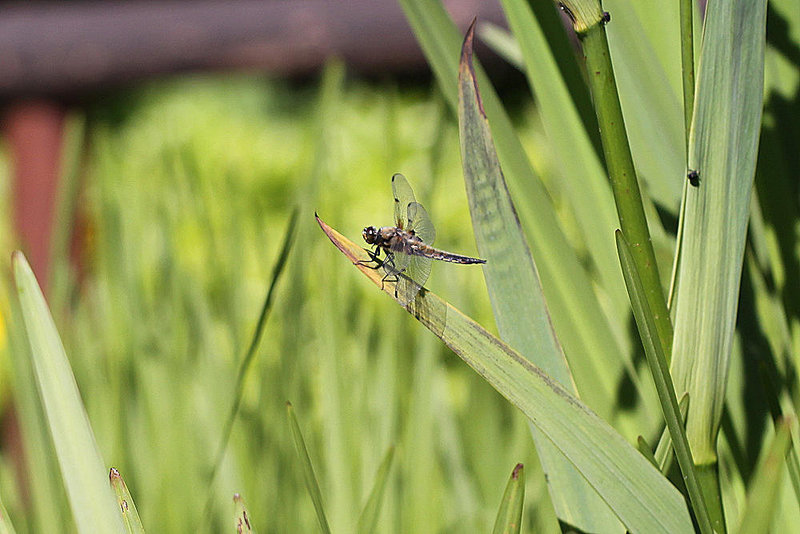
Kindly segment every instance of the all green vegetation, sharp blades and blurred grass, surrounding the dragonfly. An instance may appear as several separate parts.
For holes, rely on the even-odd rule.
[[[798,524],[798,0],[712,1],[702,44],[686,3],[567,2],[602,88],[551,2],[503,0],[516,39],[475,38],[523,70],[536,106],[515,109],[438,3],[401,4],[431,89],[332,63],[313,87],[152,83],[72,119],[82,279],[64,219],[54,321],[21,255],[0,294],[25,460],[0,451],[0,531]],[[608,110],[626,128],[598,135]],[[437,245],[488,260],[435,265],[420,322],[352,265],[394,172]]]

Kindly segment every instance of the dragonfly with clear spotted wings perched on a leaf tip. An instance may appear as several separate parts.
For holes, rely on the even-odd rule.
[[[392,176],[395,226],[367,226],[361,235],[373,250],[367,250],[374,269],[383,268],[381,289],[386,282],[395,284],[395,297],[401,304],[411,302],[431,274],[433,260],[476,264],[486,260],[445,252],[433,247],[436,229],[428,212],[414,198],[408,180],[402,174]],[[384,253],[380,259],[381,251]]]

